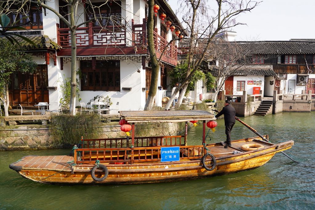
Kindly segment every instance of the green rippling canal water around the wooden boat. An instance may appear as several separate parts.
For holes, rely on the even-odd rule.
[[[23,179],[9,164],[26,155],[63,155],[69,149],[0,152],[0,209],[315,209],[315,112],[241,118],[270,141],[294,140],[262,167],[199,180],[143,185],[58,186]],[[214,143],[225,140],[217,120]],[[188,132],[189,144],[201,144],[202,126]],[[236,122],[232,139],[255,136]]]

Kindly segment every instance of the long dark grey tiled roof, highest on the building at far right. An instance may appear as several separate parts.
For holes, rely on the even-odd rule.
[[[315,41],[237,41],[242,48],[250,47],[257,54],[313,54]]]

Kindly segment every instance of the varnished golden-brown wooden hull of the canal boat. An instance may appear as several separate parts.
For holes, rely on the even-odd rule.
[[[109,175],[100,182],[93,180],[91,170],[94,165],[71,165],[71,156],[41,156],[41,157],[59,157],[62,163],[58,169],[42,167],[19,166],[23,160],[33,161],[36,156],[27,156],[20,162],[12,163],[11,169],[16,170],[21,176],[41,183],[72,185],[72,184],[142,184],[158,183],[179,180],[199,179],[217,175],[231,174],[245,170],[258,168],[267,163],[277,152],[291,148],[293,141],[287,141],[272,147],[259,149],[257,151],[243,152],[239,154],[216,158],[215,169],[206,170],[201,159],[191,161],[178,161],[166,163],[139,163],[139,164],[105,164]],[[40,157],[40,158],[41,158]],[[45,159],[45,158],[43,158]],[[58,158],[56,158],[58,159]],[[48,161],[49,158],[46,158]],[[63,161],[63,162],[62,162]],[[21,165],[21,164],[20,164]],[[96,173],[100,177],[101,173]]]

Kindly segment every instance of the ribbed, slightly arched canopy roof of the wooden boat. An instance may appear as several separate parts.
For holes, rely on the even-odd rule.
[[[129,123],[136,122],[187,122],[191,120],[215,120],[213,113],[205,110],[172,111],[120,111],[121,118]]]

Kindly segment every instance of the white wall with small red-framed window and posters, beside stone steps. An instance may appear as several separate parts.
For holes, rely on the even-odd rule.
[[[260,90],[262,91],[262,94],[264,94],[264,76],[259,75],[248,75],[248,76],[234,76],[233,80],[233,95],[243,95],[243,91],[236,91],[237,90],[237,81],[245,81],[245,91],[247,94],[252,95],[253,94],[253,87],[260,87]],[[253,81],[261,81],[261,85],[247,85],[247,81],[253,80]]]

